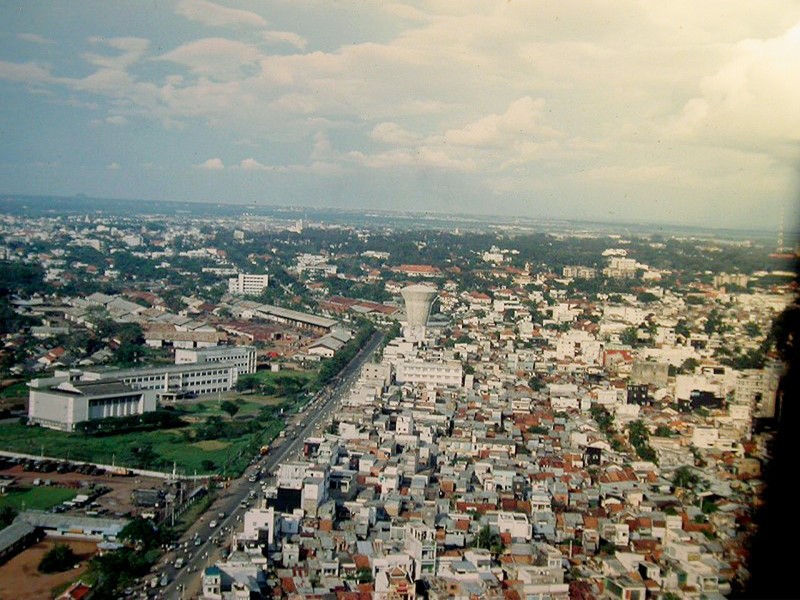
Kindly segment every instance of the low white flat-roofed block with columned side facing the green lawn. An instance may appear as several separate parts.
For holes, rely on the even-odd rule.
[[[156,409],[152,391],[135,389],[119,379],[75,381],[70,376],[34,379],[30,383],[31,423],[75,431],[84,421],[141,415]]]

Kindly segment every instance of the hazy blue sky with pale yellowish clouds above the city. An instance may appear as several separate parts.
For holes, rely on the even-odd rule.
[[[775,230],[796,0],[0,4],[0,193]]]

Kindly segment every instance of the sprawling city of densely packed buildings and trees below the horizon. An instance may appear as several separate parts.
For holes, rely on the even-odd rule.
[[[178,495],[245,486],[235,518],[207,513],[212,528],[229,517],[211,550],[167,542],[115,593],[700,600],[746,585],[783,402],[787,249],[294,216],[0,223],[2,366],[6,385],[24,383],[5,408],[26,423],[0,424],[0,444],[24,427],[77,448],[115,419],[291,396],[280,412],[192,421],[186,444],[207,421],[256,419],[254,436],[277,424],[242,479],[207,463],[176,487],[180,468],[151,449],[120,465],[147,484],[105,527],[91,529],[91,502],[56,513],[103,551],[135,553],[132,523],[167,530]],[[377,353],[337,375],[373,331]],[[305,387],[260,379],[280,373]],[[37,452],[2,449],[7,492]],[[0,552],[26,552],[37,530],[69,537],[52,515],[19,511]],[[73,588],[99,594],[96,571]]]

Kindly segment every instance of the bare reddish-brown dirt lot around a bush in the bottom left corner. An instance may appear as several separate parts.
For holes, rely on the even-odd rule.
[[[69,544],[80,560],[80,567],[63,573],[45,575],[37,567],[45,553],[58,543]],[[2,600],[45,600],[51,590],[72,582],[86,571],[87,561],[97,551],[97,542],[45,539],[0,565],[0,598]]]

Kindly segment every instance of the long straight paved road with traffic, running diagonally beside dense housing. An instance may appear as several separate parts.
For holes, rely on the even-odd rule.
[[[318,426],[322,427],[330,421],[331,413],[355,383],[361,367],[375,354],[383,337],[382,333],[375,332],[355,358],[342,369],[336,380],[320,391],[297,416],[297,425],[287,428],[284,441],[269,455],[250,465],[244,475],[231,482],[228,488],[221,490],[206,513],[181,537],[178,550],[166,553],[158,563],[158,577],[166,574],[169,583],[158,591],[153,590],[154,593],[158,593],[161,598],[170,599],[195,598],[199,595],[203,569],[220,558],[221,549],[230,547],[232,532],[241,529],[241,520],[247,510],[242,502],[248,500],[251,491],[258,493],[261,485],[258,481],[265,474],[275,472],[283,462],[300,458],[303,440],[317,433]],[[255,482],[251,481],[253,478]],[[222,518],[219,517],[221,513],[224,513]],[[210,526],[211,521],[217,521],[213,528]],[[212,541],[215,537],[219,539],[219,544]],[[178,557],[183,557],[185,562],[179,570],[173,566]]]

